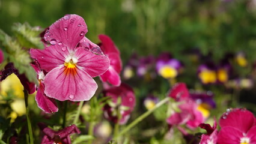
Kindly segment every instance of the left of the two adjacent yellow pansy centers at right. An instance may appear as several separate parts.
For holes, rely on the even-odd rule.
[[[204,70],[199,74],[200,79],[204,84],[215,83],[217,76],[216,72],[212,70]]]

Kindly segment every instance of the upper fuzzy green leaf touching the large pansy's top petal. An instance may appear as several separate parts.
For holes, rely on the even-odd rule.
[[[31,27],[28,23],[14,23],[13,32],[17,37],[20,45],[27,49],[43,49],[43,43],[39,37],[42,29],[38,26]]]

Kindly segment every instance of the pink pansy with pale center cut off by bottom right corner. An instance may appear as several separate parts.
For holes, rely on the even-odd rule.
[[[255,144],[256,125],[254,115],[246,109],[227,109],[219,125],[218,144]]]

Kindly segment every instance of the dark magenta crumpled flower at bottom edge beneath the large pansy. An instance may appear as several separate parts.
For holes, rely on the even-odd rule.
[[[70,135],[74,133],[81,133],[76,125],[70,125],[59,131],[54,131],[47,127],[43,123],[39,123],[41,131],[45,134],[41,141],[41,144],[52,144],[52,143],[61,143],[61,144],[71,144]]]

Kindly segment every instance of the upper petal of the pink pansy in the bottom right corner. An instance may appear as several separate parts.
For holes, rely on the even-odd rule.
[[[254,124],[254,115],[249,110],[233,109],[231,112],[224,113],[219,119],[221,127],[235,127],[243,133],[247,133],[249,128]]]

